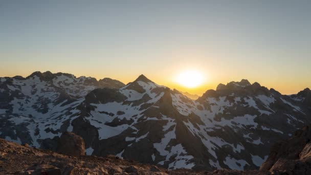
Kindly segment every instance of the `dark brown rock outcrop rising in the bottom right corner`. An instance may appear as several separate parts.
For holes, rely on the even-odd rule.
[[[283,174],[311,174],[311,125],[295,132],[294,137],[277,142],[260,170]]]

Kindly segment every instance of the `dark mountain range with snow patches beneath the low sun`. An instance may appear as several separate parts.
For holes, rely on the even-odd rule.
[[[42,77],[0,79],[1,138],[55,150],[68,130],[84,139],[87,155],[243,170],[257,169],[275,141],[310,123],[309,89],[286,96],[242,80],[191,100],[143,75],[87,93]]]

